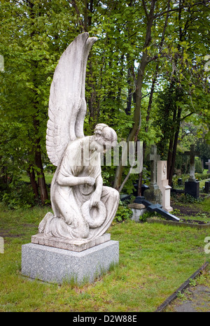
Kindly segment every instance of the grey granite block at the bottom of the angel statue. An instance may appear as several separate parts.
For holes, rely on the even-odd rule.
[[[92,283],[118,262],[118,241],[107,241],[81,252],[36,243],[22,246],[22,275],[50,283]]]

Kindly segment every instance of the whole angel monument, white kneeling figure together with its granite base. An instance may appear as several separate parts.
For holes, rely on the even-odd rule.
[[[50,187],[53,213],[45,215],[38,234],[22,246],[22,274],[48,282],[94,277],[118,263],[118,241],[109,229],[119,193],[103,186],[101,157],[116,146],[117,134],[100,123],[84,136],[85,72],[95,37],[77,36],[60,57],[48,108],[46,147],[57,166]]]

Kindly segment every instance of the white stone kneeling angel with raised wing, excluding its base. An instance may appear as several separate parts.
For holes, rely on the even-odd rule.
[[[50,87],[46,147],[57,169],[50,188],[53,214],[47,213],[38,227],[47,237],[97,239],[118,208],[118,191],[103,185],[100,157],[116,146],[117,134],[103,123],[94,135],[83,133],[86,64],[95,41],[88,33],[74,39],[60,57]]]

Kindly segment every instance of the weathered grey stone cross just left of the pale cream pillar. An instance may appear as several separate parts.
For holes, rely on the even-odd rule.
[[[149,189],[144,191],[144,197],[153,204],[162,204],[162,192],[157,185],[157,162],[160,160],[160,155],[157,155],[157,146],[155,145],[151,147],[149,160],[151,160],[151,183]]]

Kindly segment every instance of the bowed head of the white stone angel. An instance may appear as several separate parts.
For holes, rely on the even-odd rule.
[[[109,148],[115,147],[117,141],[116,132],[108,125],[99,123],[94,128],[94,150],[97,150],[97,152],[103,153]]]

